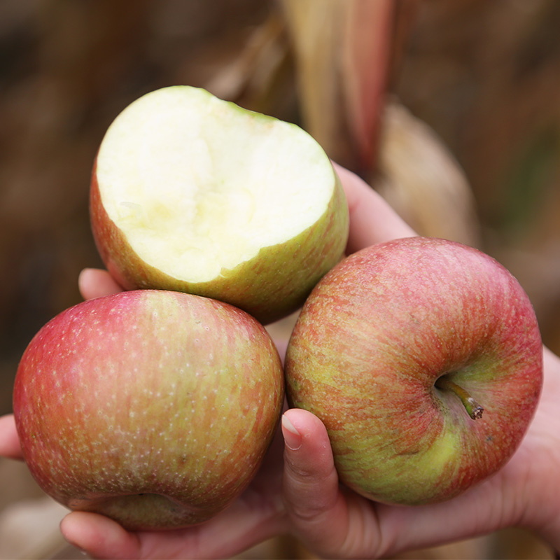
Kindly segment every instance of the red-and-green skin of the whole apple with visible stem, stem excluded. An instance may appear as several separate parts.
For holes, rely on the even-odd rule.
[[[484,407],[471,419],[451,379]],[[325,423],[341,482],[383,503],[452,498],[500,469],[542,387],[533,307],[496,260],[452,241],[365,248],[318,283],[293,330],[286,389]]]

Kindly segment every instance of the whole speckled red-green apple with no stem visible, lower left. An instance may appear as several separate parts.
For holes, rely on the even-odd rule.
[[[281,360],[260,323],[165,290],[62,311],[29,343],[13,396],[43,490],[132,530],[223,510],[258,470],[282,404]]]

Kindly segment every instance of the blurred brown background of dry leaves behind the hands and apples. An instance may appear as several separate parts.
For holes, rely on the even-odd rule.
[[[560,351],[558,29],[556,0],[2,0],[0,413],[31,337],[101,266],[87,197],[106,128],[172,84],[301,125],[421,235],[498,258]],[[74,557],[63,513],[0,459],[0,559]],[[240,557],[313,556],[278,539]],[[398,557],[552,555],[508,530]]]

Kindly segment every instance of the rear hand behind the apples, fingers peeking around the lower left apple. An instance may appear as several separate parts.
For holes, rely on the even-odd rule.
[[[372,239],[381,241],[414,235],[370,187],[346,170],[338,168],[338,171],[351,211],[349,251],[355,251]],[[85,299],[120,291],[120,286],[106,271],[95,269],[85,269],[80,274],[79,286]],[[282,354],[286,342],[278,342]],[[179,531],[130,533],[105,517],[73,512],[62,521],[62,533],[73,545],[98,557],[231,556],[289,530],[281,493],[282,447],[279,430],[249,489],[207,524]],[[11,415],[0,419],[0,455],[22,458]]]

